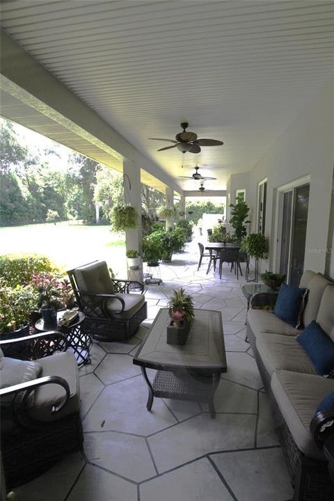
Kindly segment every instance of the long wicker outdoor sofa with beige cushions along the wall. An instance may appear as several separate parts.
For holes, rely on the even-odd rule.
[[[317,431],[324,429],[318,426],[323,415],[315,417],[315,412],[320,402],[334,392],[333,374],[319,375],[311,359],[315,358],[313,353],[309,356],[296,336],[305,333],[306,326],[315,325],[316,321],[328,336],[326,342],[330,340],[330,351],[334,348],[334,282],[319,273],[304,271],[299,287],[307,289],[299,328],[278,318],[275,309],[263,309],[264,304],[275,308],[278,293],[271,296],[260,293],[250,300],[247,336],[271,401],[294,486],[294,501],[333,501],[334,483],[328,472],[328,457],[317,447],[315,434],[310,430],[310,423],[317,419]],[[326,434],[331,429],[334,435],[334,405],[326,411],[326,418]]]

